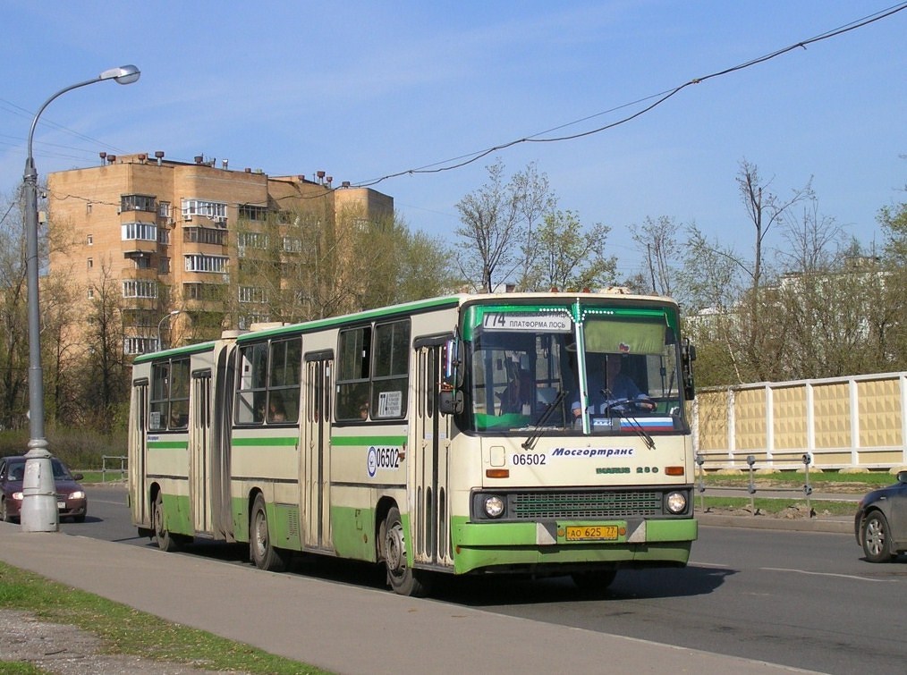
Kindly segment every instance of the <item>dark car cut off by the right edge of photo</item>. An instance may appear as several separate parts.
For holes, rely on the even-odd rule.
[[[866,560],[885,563],[907,551],[907,471],[898,482],[873,490],[860,500],[853,532]]]

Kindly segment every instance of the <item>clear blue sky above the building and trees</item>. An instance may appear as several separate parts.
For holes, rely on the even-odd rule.
[[[520,3],[6,2],[0,7],[0,191],[22,180],[34,111],[112,66],[141,80],[68,92],[42,115],[41,176],[98,152],[164,150],[335,185],[529,137],[569,135],[622,107],[895,6],[837,0]],[[559,207],[612,227],[673,217],[745,251],[735,177],[755,163],[781,196],[809,178],[819,210],[871,244],[907,184],[907,10],[767,63],[690,86],[578,140],[519,144],[462,169],[375,186],[412,229],[453,243],[455,204],[500,158],[535,162]],[[613,112],[613,109],[618,109]],[[780,236],[769,244],[782,246]]]

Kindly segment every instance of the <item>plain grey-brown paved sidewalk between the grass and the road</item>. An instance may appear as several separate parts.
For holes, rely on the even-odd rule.
[[[8,523],[0,523],[0,560],[345,675],[797,671],[200,556],[24,533]]]

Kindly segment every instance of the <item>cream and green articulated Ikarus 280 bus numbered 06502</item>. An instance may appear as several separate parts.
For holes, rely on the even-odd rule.
[[[383,564],[401,594],[486,573],[600,591],[688,562],[693,358],[672,301],[591,293],[451,295],[144,354],[132,522],[165,551],[248,542],[265,570]]]

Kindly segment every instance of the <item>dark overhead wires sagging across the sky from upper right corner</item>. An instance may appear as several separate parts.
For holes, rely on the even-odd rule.
[[[772,59],[775,59],[778,56],[781,56],[785,53],[793,52],[796,49],[802,48],[805,50],[807,44],[822,42],[823,40],[828,40],[830,38],[837,37],[838,35],[849,33],[851,31],[856,30],[857,28],[862,28],[865,25],[873,24],[876,21],[881,21],[882,19],[887,18],[887,17],[891,16],[892,14],[897,14],[898,12],[901,12],[904,9],[907,9],[907,3],[900,3],[898,5],[892,5],[891,7],[888,7],[887,9],[883,9],[879,12],[876,12],[875,14],[869,14],[867,16],[864,16],[861,19],[856,19],[856,20],[850,22],[849,24],[844,24],[844,25],[834,28],[832,30],[826,31],[825,33],[815,35],[814,37],[808,38],[806,40],[802,40],[798,43],[789,44],[786,47],[782,47],[781,49],[775,50],[775,52],[767,53],[764,56],[759,56],[755,59],[751,59],[750,61],[746,61],[744,63],[738,63],[735,66],[731,66],[730,68],[726,68],[721,71],[712,72],[707,75],[703,75],[701,77],[695,77],[692,80],[689,80],[688,82],[684,82],[683,84],[680,84],[677,87],[674,87],[673,89],[668,89],[668,90],[665,90],[664,92],[658,92],[655,94],[651,94],[650,96],[639,99],[637,101],[624,103],[622,105],[611,108],[610,110],[597,112],[593,115],[589,115],[587,117],[581,118],[580,120],[566,122],[557,127],[552,127],[549,130],[539,131],[537,133],[532,134],[531,136],[526,136],[522,139],[511,140],[506,143],[502,143],[500,145],[495,145],[492,148],[477,150],[475,152],[470,152],[470,153],[466,153],[464,155],[460,155],[459,157],[454,157],[451,159],[444,159],[442,161],[437,161],[432,164],[426,164],[423,167],[419,167],[417,169],[406,169],[405,171],[397,171],[396,173],[387,174],[385,176],[382,176],[381,178],[373,178],[370,180],[365,180],[360,183],[354,184],[354,187],[368,188],[373,185],[377,185],[378,183],[381,183],[389,178],[399,178],[401,176],[411,176],[411,175],[420,174],[420,173],[441,173],[443,171],[452,171],[453,169],[461,169],[468,164],[472,164],[473,162],[476,162],[479,159],[483,159],[483,157],[487,157],[488,155],[492,154],[493,152],[497,152],[498,150],[502,150],[502,149],[512,148],[513,146],[519,145],[521,143],[556,143],[556,142],[561,142],[564,140],[576,140],[576,139],[580,139],[580,138],[583,138],[586,136],[591,136],[593,134],[601,133],[602,131],[610,130],[610,129],[613,129],[614,127],[618,127],[622,124],[626,124],[629,121],[635,120],[640,115],[644,115],[645,113],[653,110],[654,108],[658,107],[665,101],[668,101],[668,99],[677,95],[679,92],[682,92],[684,89],[686,89],[690,85],[700,84],[702,82],[706,82],[707,80],[721,77],[723,75],[727,75],[732,72],[742,71],[742,70],[745,70],[746,68],[751,68],[754,65],[758,65],[759,63],[766,63],[767,61],[771,61]],[[552,131],[561,130],[566,127],[571,127],[575,124],[580,124],[584,121],[592,120],[592,119],[600,117],[602,115],[609,114],[610,112],[623,110],[624,108],[629,108],[631,106],[638,105],[639,103],[643,103],[645,101],[653,101],[653,102],[649,103],[649,105],[647,105],[645,108],[643,108],[639,111],[636,111],[631,115],[628,115],[627,117],[624,117],[618,121],[610,122],[610,124],[605,124],[596,129],[592,129],[592,130],[588,130],[588,131],[580,131],[579,133],[575,133],[575,134],[571,134],[571,135],[567,135],[567,136],[540,138],[541,136],[544,136],[545,134],[549,134]],[[453,162],[453,164],[451,162]]]

